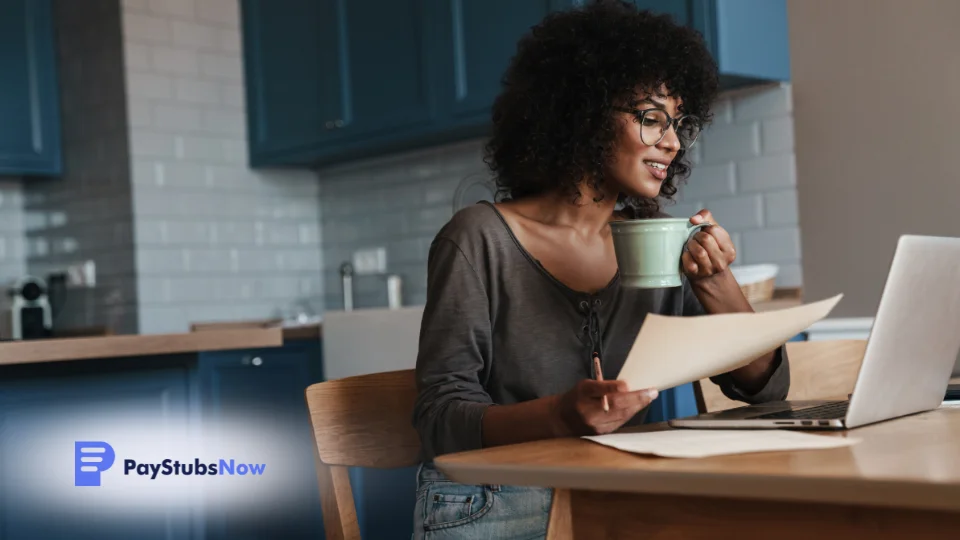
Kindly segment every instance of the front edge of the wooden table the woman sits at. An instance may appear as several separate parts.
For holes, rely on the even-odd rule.
[[[898,480],[849,480],[769,474],[466,464],[443,456],[436,466],[455,482],[569,490],[692,495],[960,512],[960,485]],[[505,482],[510,478],[510,482]]]

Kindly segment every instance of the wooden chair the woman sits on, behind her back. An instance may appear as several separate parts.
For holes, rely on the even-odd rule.
[[[311,385],[306,392],[317,481],[328,540],[360,540],[347,467],[391,469],[419,463],[412,425],[413,370],[358,375]]]

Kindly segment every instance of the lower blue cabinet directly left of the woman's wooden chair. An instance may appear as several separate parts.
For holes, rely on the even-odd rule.
[[[282,463],[268,467],[285,481],[276,502],[269,486],[251,485],[232,508],[211,504],[205,514],[210,540],[324,538],[323,514],[313,457],[313,433],[304,390],[323,379],[319,341],[288,341],[281,348],[201,353],[198,375],[204,433],[220,437],[218,426],[242,425],[258,439],[283,441]],[[224,433],[221,442],[236,435]],[[234,441],[256,444],[257,441]],[[257,509],[257,510],[251,510]]]

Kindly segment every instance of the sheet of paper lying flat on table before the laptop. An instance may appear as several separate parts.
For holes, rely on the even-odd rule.
[[[649,433],[611,433],[584,439],[635,454],[701,458],[777,450],[814,450],[851,446],[859,439],[827,437],[796,431],[672,429]]]

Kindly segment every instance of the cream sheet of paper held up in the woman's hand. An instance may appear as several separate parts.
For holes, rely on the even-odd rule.
[[[647,315],[617,379],[664,390],[737,369],[827,316],[843,297],[763,313]]]

